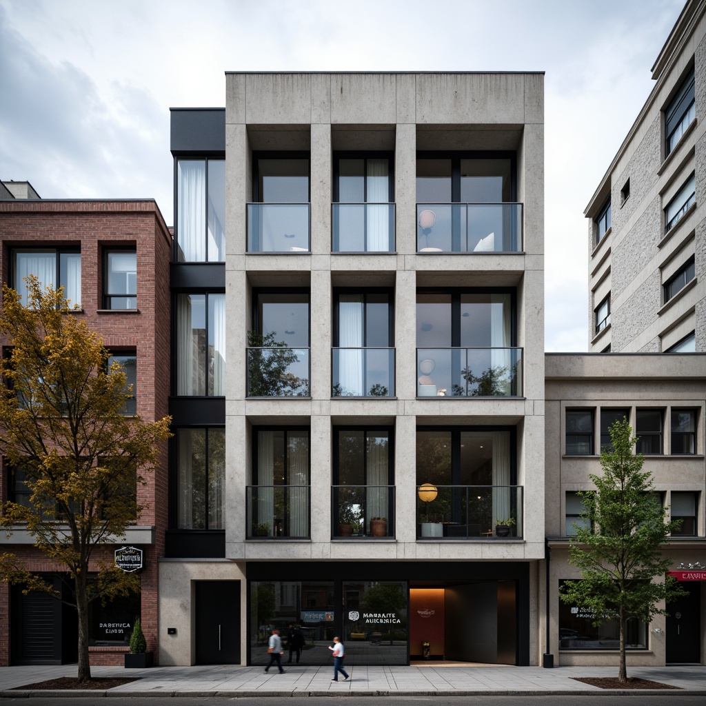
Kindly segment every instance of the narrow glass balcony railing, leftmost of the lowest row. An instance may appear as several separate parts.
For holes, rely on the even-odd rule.
[[[246,486],[247,538],[309,537],[310,486]]]

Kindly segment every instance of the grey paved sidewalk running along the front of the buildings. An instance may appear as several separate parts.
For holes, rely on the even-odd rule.
[[[123,686],[91,691],[11,691],[19,686],[59,676],[76,676],[75,664],[0,667],[0,698],[31,696],[314,696],[314,695],[607,695],[604,690],[572,677],[617,676],[618,666],[542,669],[538,666],[347,666],[351,678],[332,682],[333,666],[287,665],[285,674],[261,666],[157,666],[124,669],[94,666],[92,676],[138,677]],[[628,676],[659,681],[706,695],[706,666],[628,666]],[[635,693],[635,692],[633,692]],[[676,691],[640,691],[669,694]],[[685,693],[681,691],[680,693]]]

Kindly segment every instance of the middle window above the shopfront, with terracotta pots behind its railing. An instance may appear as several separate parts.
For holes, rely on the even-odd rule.
[[[333,458],[333,535],[394,537],[390,429],[338,429]]]

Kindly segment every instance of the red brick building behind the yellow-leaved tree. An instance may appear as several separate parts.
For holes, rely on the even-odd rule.
[[[156,203],[41,200],[28,182],[5,186],[0,190],[2,282],[22,293],[23,277],[32,273],[43,285],[64,287],[65,296],[79,305],[71,316],[80,316],[100,333],[126,370],[133,385],[126,412],[145,420],[164,417],[172,236]],[[157,557],[164,554],[167,525],[166,443],[160,469],[145,475],[146,484],[138,486],[138,503],[145,509],[119,543],[143,550],[141,593],[106,606],[92,604],[93,664],[122,664],[135,616],[141,615],[150,650],[157,651]],[[22,502],[26,495],[21,473],[3,460],[0,503]],[[30,570],[61,574],[62,567],[33,544],[21,527],[10,537],[0,534],[0,551],[12,551]],[[112,558],[117,546],[107,547],[95,561]],[[58,576],[55,585],[61,587]],[[76,611],[47,594],[25,595],[20,588],[0,584],[0,665],[75,662]]]

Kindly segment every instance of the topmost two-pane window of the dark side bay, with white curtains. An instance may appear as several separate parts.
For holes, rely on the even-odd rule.
[[[225,160],[177,160],[177,259],[225,262]]]

